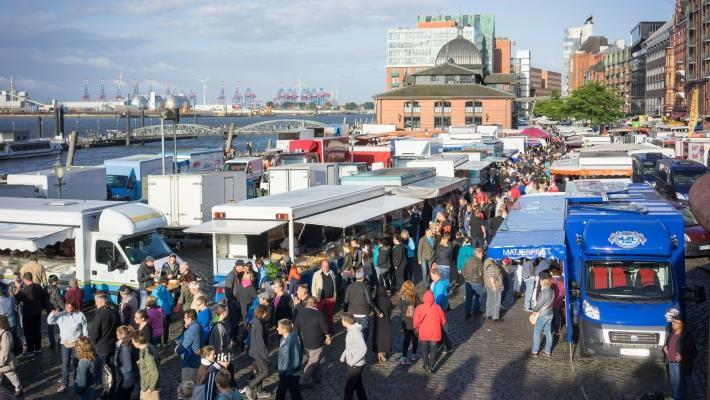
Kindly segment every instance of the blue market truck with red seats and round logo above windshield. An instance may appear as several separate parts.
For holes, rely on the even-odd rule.
[[[704,299],[684,287],[681,214],[646,183],[573,181],[564,231],[582,355],[661,359],[671,313]]]

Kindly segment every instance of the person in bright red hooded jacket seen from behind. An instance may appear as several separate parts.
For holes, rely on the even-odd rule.
[[[424,370],[432,374],[436,364],[436,346],[441,340],[441,331],[445,324],[444,311],[434,303],[434,294],[431,290],[427,290],[422,298],[422,304],[414,310],[414,330],[418,331]]]

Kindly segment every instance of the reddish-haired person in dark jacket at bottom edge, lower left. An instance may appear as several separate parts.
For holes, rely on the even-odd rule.
[[[133,327],[128,325],[121,325],[116,329],[116,351],[113,359],[113,398],[116,400],[130,399],[133,387],[140,379],[138,350],[133,346],[134,332]]]

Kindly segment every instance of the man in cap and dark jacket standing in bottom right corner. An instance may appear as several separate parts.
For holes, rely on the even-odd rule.
[[[674,399],[685,398],[686,379],[693,373],[693,361],[697,356],[695,341],[685,329],[685,321],[680,313],[671,317],[671,331],[663,346],[668,365],[668,383]]]

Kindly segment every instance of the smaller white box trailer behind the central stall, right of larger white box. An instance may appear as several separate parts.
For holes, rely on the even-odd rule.
[[[267,171],[269,195],[318,185],[337,185],[338,164],[302,163],[271,167]]]

